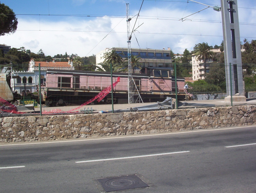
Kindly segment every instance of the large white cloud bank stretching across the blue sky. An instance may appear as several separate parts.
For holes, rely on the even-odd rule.
[[[83,1],[76,2],[82,3]],[[255,23],[254,10],[241,10],[239,12],[240,22]],[[151,49],[170,47],[174,53],[182,54],[186,48],[192,50],[196,43],[208,42],[212,46],[221,43],[223,37],[220,12],[207,9],[189,17],[193,21],[178,21],[177,18],[182,18],[183,13],[184,10],[168,7],[142,9],[135,28],[143,24],[132,35],[131,47]],[[193,12],[186,11],[185,15],[191,13]],[[136,14],[137,12],[134,12],[130,15]],[[156,17],[156,19],[143,19],[144,16]],[[51,22],[43,19],[18,19],[18,30],[14,34],[0,36],[0,43],[15,48],[24,46],[35,53],[42,49],[46,55],[51,56],[67,52],[78,54],[81,57],[97,54],[105,48],[127,47],[126,17],[123,19],[108,17],[78,19],[65,18],[65,21]],[[198,20],[195,21],[195,19]],[[136,18],[133,18],[130,22],[131,31],[135,20]],[[217,21],[217,23],[204,22],[204,20]],[[241,26],[241,36],[255,36],[255,26]]]

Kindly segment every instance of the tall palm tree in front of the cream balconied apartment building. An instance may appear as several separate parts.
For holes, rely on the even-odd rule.
[[[211,51],[212,46],[209,46],[208,43],[198,43],[194,47],[194,53],[197,55],[197,61],[203,60],[204,61],[204,74],[206,74],[206,60],[212,59],[214,52]]]

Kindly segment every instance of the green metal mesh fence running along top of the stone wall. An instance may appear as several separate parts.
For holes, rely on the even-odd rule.
[[[255,64],[143,64],[132,66],[132,76],[125,65],[112,73],[43,62],[1,67],[1,116],[256,104]]]

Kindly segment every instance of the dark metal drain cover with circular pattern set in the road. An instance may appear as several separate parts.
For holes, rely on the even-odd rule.
[[[98,181],[106,192],[149,187],[148,184],[142,181],[135,174],[120,177],[101,178],[98,179]]]

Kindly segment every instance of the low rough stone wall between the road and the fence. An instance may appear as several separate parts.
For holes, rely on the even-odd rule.
[[[0,118],[0,142],[134,135],[253,125],[256,105]]]

